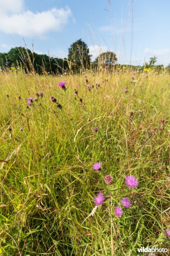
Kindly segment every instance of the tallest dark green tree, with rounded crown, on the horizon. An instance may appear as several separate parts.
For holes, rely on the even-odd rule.
[[[68,48],[68,60],[74,64],[75,70],[80,67],[85,69],[90,67],[91,55],[88,45],[82,39],[77,40]]]

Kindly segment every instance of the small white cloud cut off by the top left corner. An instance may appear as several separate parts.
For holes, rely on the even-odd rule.
[[[2,13],[19,13],[23,10],[23,0],[0,0],[0,15]]]

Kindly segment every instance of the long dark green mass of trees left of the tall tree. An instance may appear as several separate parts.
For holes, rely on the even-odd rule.
[[[7,53],[0,53],[1,67],[23,67],[26,72],[34,70],[36,73],[42,71],[62,73],[68,70],[67,59],[53,58],[46,54],[37,54],[24,47],[11,48]]]

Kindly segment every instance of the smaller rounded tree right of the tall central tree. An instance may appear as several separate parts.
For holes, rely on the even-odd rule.
[[[102,64],[104,66],[112,67],[117,61],[115,52],[103,52],[94,61],[94,64]]]

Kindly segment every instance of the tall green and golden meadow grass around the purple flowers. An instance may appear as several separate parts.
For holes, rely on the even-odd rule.
[[[140,247],[170,247],[168,83],[166,71],[0,73],[0,255],[136,256]],[[30,106],[29,97],[37,97]],[[99,192],[105,201],[88,216]]]

